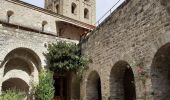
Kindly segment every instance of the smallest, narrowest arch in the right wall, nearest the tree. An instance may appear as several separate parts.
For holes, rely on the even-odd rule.
[[[102,100],[101,80],[96,71],[92,71],[87,79],[87,100]]]

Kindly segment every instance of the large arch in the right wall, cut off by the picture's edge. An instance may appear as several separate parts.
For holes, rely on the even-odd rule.
[[[170,100],[170,43],[162,46],[155,54],[151,79],[155,100]]]

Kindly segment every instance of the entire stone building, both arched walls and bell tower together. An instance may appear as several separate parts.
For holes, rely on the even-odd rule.
[[[0,0],[1,91],[14,86],[29,91],[46,66],[43,53],[47,44],[78,42],[83,35],[82,53],[93,63],[82,82],[66,75],[67,96],[56,96],[57,100],[170,99],[169,0],[125,0],[90,33],[95,0],[46,0],[45,8]],[[77,8],[76,14],[72,8]],[[88,16],[84,16],[85,10]],[[57,76],[56,80],[63,78]]]

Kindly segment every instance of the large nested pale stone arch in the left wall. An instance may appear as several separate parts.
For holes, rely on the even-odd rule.
[[[31,49],[16,48],[6,55],[0,68],[3,70],[0,90],[15,88],[28,92],[32,83],[38,83],[41,61]]]

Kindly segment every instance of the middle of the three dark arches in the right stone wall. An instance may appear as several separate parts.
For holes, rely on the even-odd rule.
[[[110,100],[136,100],[134,74],[125,61],[118,61],[111,70]]]

